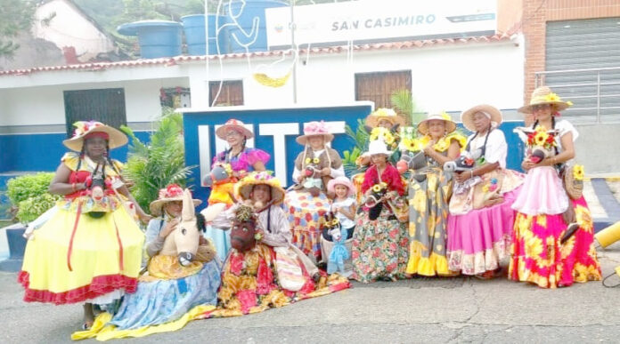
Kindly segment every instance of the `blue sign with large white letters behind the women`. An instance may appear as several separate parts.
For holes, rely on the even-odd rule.
[[[361,101],[329,108],[215,108],[184,113],[185,164],[199,166],[190,176],[194,196],[202,201],[208,198],[209,189],[200,183],[202,176],[210,171],[213,157],[227,148],[226,142],[216,137],[216,129],[230,118],[240,120],[254,132],[254,139],[248,140],[247,146],[263,149],[271,155],[266,168],[273,171],[286,188],[292,185],[293,162],[304,148],[295,139],[303,132],[305,123],[324,120],[334,134],[331,146],[342,156],[343,151],[355,145],[345,134],[345,126],[348,124],[355,130],[357,119],[368,116],[372,108],[371,102]]]

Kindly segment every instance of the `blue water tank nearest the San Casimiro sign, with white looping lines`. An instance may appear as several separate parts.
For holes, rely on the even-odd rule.
[[[246,52],[246,49],[241,44],[249,44],[252,37],[247,37],[252,32],[252,25],[254,25],[254,19],[258,19],[258,35],[254,43],[249,45],[249,52],[265,52],[267,50],[267,31],[265,23],[265,9],[273,7],[289,6],[289,4],[283,3],[277,0],[246,0],[245,6],[242,1],[233,0],[230,5],[226,5],[226,14],[228,15],[228,21],[233,23],[232,17],[237,17],[235,26],[230,27],[230,44],[231,52]],[[241,13],[241,15],[240,15]],[[245,35],[243,32],[245,32]],[[239,44],[234,36],[240,41]]]

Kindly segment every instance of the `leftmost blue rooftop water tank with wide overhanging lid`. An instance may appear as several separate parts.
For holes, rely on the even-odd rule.
[[[182,25],[169,20],[141,20],[119,26],[125,36],[138,36],[140,56],[156,59],[181,55]]]

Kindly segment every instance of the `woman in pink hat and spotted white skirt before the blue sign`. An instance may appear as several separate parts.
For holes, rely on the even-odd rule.
[[[317,262],[322,260],[324,215],[330,211],[330,199],[326,195],[327,183],[332,178],[345,175],[338,152],[326,146],[333,138],[324,122],[305,125],[304,135],[297,138],[298,143],[304,146],[304,151],[295,159],[293,171],[293,180],[298,185],[284,199],[293,230],[293,244]]]

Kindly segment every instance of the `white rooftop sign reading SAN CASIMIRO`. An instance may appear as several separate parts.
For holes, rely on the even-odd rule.
[[[488,35],[496,0],[360,0],[295,6],[296,44]],[[267,44],[290,47],[290,8],[265,10]]]

